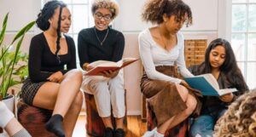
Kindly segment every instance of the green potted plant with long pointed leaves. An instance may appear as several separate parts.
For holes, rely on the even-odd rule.
[[[9,14],[5,15],[3,28],[0,32],[0,98],[3,98],[3,102],[9,108],[13,108],[14,96],[8,94],[8,91],[10,87],[21,83],[22,78],[20,79],[20,76],[22,77],[22,74],[26,71],[26,65],[18,64],[22,60],[27,60],[26,54],[20,52],[20,46],[26,32],[34,26],[35,21],[32,21],[18,31],[10,44],[3,45],[8,16]]]

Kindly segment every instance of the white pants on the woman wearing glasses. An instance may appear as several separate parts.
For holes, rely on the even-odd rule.
[[[100,117],[125,117],[125,88],[123,70],[112,79],[94,76],[84,77],[82,83],[84,92],[93,94]]]

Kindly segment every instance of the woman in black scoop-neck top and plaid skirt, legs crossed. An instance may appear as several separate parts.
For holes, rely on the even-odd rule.
[[[76,69],[75,45],[64,34],[71,26],[71,14],[65,3],[49,1],[36,22],[43,32],[31,40],[22,100],[53,110],[45,128],[58,137],[71,137],[83,104],[79,92],[83,75]]]

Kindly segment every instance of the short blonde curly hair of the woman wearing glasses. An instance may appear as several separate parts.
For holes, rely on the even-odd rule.
[[[114,0],[95,0],[91,6],[91,13],[95,14],[97,9],[108,9],[114,19],[119,14],[119,5]]]

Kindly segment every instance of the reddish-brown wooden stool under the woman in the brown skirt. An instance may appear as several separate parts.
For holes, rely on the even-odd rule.
[[[147,127],[148,130],[152,130],[156,127],[156,122],[154,121],[154,112],[147,102]],[[179,123],[176,127],[168,129],[166,131],[165,137],[187,137],[188,136],[188,121],[185,120],[183,123]]]

